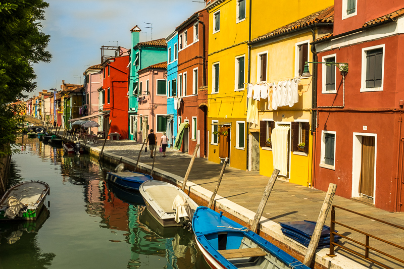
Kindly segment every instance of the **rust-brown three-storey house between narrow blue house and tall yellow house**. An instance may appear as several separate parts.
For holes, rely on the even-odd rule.
[[[182,132],[178,133],[174,148],[193,154],[196,144],[199,144],[196,156],[206,157],[208,11],[195,12],[175,30],[178,32],[178,97],[173,99],[177,102],[178,124],[187,122],[189,127],[179,129]],[[172,86],[169,82],[169,88]]]

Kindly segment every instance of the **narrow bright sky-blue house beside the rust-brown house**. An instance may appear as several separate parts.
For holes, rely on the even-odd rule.
[[[172,32],[167,41],[167,136],[169,147],[175,143],[177,136],[177,110],[174,102],[177,101],[177,71],[178,71],[178,34]]]

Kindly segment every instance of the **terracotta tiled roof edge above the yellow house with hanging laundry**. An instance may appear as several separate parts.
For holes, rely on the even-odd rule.
[[[259,42],[261,40],[271,38],[280,34],[288,33],[293,30],[297,30],[306,26],[310,26],[317,23],[334,23],[334,6],[328,7],[324,10],[315,12],[305,18],[297,20],[295,22],[289,23],[283,27],[280,27],[272,32],[266,33],[265,35],[259,36],[251,40],[252,42]]]

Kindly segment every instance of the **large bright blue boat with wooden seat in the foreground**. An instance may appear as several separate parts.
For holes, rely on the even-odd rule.
[[[205,206],[193,215],[196,243],[209,266],[217,269],[309,269],[261,236]]]

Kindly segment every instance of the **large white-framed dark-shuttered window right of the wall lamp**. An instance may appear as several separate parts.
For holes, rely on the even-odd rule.
[[[384,76],[384,44],[362,49],[361,91],[382,91]]]

